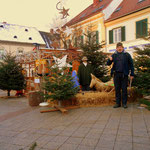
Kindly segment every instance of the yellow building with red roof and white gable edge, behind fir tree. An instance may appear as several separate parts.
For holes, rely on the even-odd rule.
[[[85,42],[88,30],[95,32],[96,43],[106,41],[105,20],[118,7],[122,0],[93,0],[93,3],[83,10],[79,15],[74,17],[65,26],[72,28],[73,34],[70,39],[72,44],[78,47],[77,41]],[[78,32],[74,38],[75,32]]]

